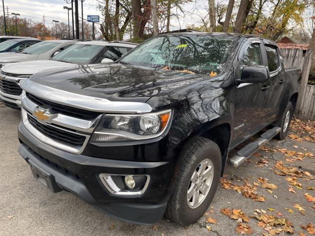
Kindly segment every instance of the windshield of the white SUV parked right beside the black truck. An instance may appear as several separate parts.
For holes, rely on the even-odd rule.
[[[103,48],[102,45],[74,44],[52,59],[79,65],[89,64]]]

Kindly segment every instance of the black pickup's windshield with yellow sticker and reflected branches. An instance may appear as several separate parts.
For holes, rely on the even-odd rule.
[[[196,74],[220,74],[234,39],[218,35],[162,35],[122,58],[121,62]]]

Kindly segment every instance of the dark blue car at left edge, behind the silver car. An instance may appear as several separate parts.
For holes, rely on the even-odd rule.
[[[19,52],[32,46],[35,43],[39,43],[39,39],[11,39],[0,43],[0,53],[7,52]]]

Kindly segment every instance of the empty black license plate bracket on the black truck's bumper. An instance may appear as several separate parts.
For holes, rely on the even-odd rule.
[[[53,176],[48,173],[47,171],[43,170],[36,164],[34,164],[31,160],[29,160],[29,165],[32,170],[32,174],[34,178],[39,181],[41,184],[43,184],[45,187],[47,187],[50,191],[53,193],[58,193],[63,191],[58,184],[56,183]]]

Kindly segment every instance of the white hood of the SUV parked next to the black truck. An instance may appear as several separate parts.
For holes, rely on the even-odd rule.
[[[33,75],[44,70],[68,67],[71,65],[73,64],[57,60],[31,60],[7,64],[2,67],[1,70],[10,74]]]

